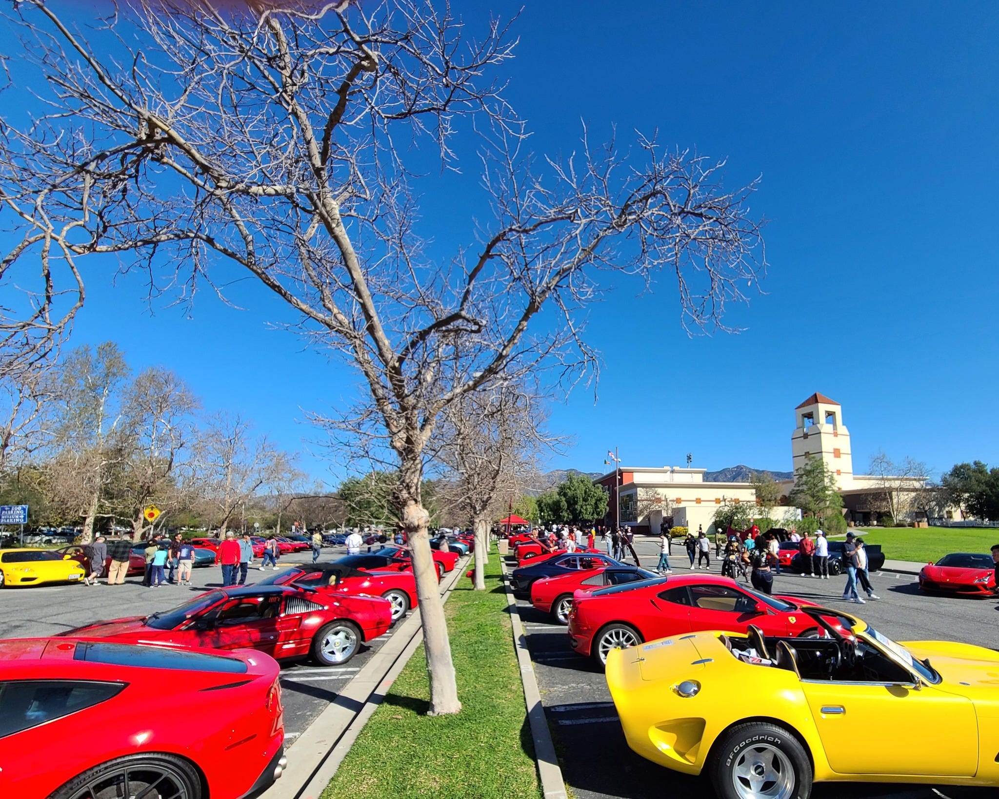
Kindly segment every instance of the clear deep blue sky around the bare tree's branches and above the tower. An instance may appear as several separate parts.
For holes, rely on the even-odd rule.
[[[460,4],[471,24],[496,0]],[[764,296],[733,309],[737,336],[689,339],[668,282],[623,286],[589,316],[597,388],[552,407],[573,443],[553,467],[738,462],[790,468],[793,408],[819,391],[843,405],[854,470],[878,448],[925,460],[999,461],[991,423],[999,356],[999,5],[531,2],[517,24],[508,97],[537,151],[591,131],[658,130],[727,157],[726,182],[762,176]],[[448,209],[468,238],[475,197]],[[281,309],[201,303],[192,319],[142,304],[138,281],[89,282],[75,343],[117,341],[136,369],[181,374],[209,409],[245,412],[327,473],[306,410],[353,393],[353,375],[270,330]],[[331,478],[344,473],[338,466]]]

